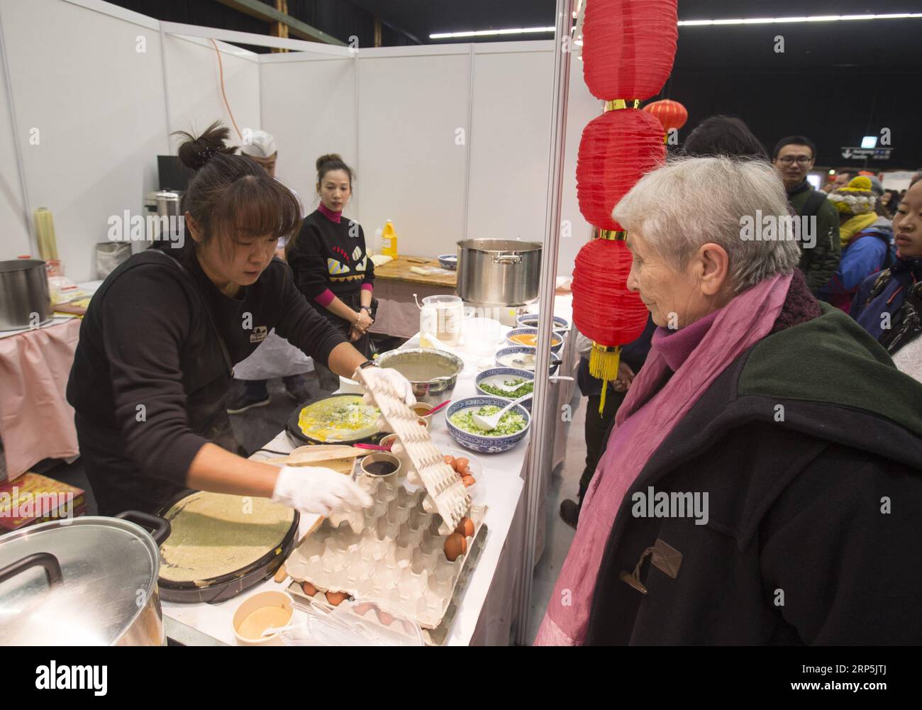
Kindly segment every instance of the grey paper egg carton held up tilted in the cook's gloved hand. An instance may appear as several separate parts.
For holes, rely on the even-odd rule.
[[[361,371],[358,376],[374,406],[381,410],[384,420],[396,433],[413,462],[413,469],[408,474],[409,482],[426,489],[428,496],[423,505],[427,512],[438,512],[442,516],[440,533],[451,534],[470,507],[470,495],[464,483],[444,462],[442,452],[432,444],[429,431],[420,426],[416,413],[386,383],[377,378],[369,383],[362,377]]]

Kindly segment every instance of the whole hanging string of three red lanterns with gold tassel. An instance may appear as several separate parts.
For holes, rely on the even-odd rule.
[[[665,159],[663,127],[640,101],[656,96],[672,71],[678,38],[676,0],[587,0],[583,74],[608,112],[585,127],[576,168],[580,211],[600,227],[573,268],[573,323],[592,339],[589,373],[618,377],[621,345],[644,331],[647,310],[627,290],[632,257],[611,210],[649,170]]]

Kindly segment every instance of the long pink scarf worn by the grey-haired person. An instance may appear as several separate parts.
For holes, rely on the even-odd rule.
[[[772,331],[791,278],[790,274],[767,278],[703,318],[704,323],[689,325],[687,329],[696,330],[700,323],[699,328],[706,332],[689,333],[700,341],[692,342],[695,347],[666,385],[662,385],[669,370],[662,352],[665,341],[679,337],[685,329],[665,337],[657,331],[644,367],[615,416],[535,645],[583,643],[602,554],[624,495],[650,456],[720,373]]]

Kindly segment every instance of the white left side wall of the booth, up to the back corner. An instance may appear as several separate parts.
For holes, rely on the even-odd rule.
[[[164,57],[157,20],[93,0],[0,0],[0,22],[18,128],[5,90],[0,258],[38,254],[31,213],[48,207],[67,277],[96,278],[95,244],[107,241],[110,217],[142,213],[144,195],[157,188],[157,155],[175,150],[170,133],[201,130],[216,118],[231,125],[215,50],[198,38],[162,35]],[[237,122],[258,127],[258,55],[219,48]]]

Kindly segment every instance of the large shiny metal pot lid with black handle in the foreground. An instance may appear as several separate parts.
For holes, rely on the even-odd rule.
[[[0,582],[4,645],[110,645],[136,620],[157,585],[157,544],[143,528],[112,517],[78,517],[0,537],[0,570],[49,553],[60,582],[32,566]],[[47,559],[47,558],[46,558]]]

